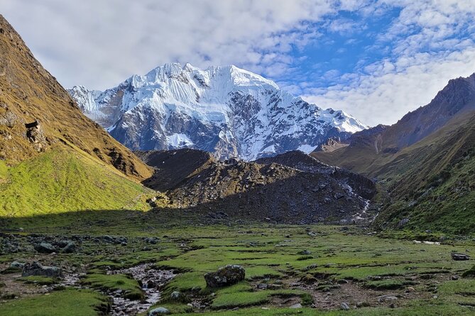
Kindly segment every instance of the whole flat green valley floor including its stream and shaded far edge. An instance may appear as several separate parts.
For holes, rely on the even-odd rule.
[[[475,262],[451,256],[474,254],[473,236],[209,222],[125,210],[0,219],[0,315],[475,314]],[[33,261],[62,277],[22,277]],[[226,264],[244,281],[207,288],[204,273]]]

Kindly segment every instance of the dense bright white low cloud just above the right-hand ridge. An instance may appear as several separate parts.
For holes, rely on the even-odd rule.
[[[350,86],[333,86],[307,94],[306,101],[322,108],[341,108],[368,125],[393,124],[405,113],[424,106],[449,79],[475,72],[475,48],[447,56],[430,54],[403,57],[386,71],[386,62],[374,74],[355,79]],[[391,68],[392,68],[391,67]]]

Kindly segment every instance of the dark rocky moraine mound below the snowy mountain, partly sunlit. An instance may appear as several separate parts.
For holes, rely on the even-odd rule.
[[[143,183],[164,192],[170,208],[204,212],[214,219],[301,224],[361,222],[373,216],[368,208],[376,194],[372,181],[302,152],[258,162],[219,161],[196,149],[138,155],[155,167],[153,178]]]

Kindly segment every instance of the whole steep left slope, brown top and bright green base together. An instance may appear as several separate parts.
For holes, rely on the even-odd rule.
[[[151,169],[86,118],[0,15],[0,217],[146,209]]]

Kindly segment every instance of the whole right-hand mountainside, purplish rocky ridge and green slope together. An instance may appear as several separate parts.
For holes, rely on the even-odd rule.
[[[475,229],[475,74],[458,78],[392,126],[356,132],[322,162],[376,177],[387,193],[375,225]]]

